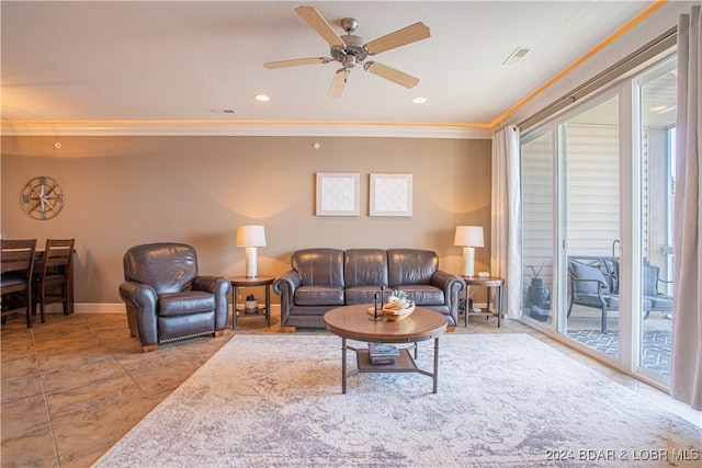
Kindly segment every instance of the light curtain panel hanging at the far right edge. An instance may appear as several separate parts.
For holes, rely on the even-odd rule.
[[[702,410],[700,7],[678,23],[675,306],[670,395]]]

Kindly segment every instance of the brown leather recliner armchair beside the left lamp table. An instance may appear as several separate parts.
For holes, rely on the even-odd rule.
[[[159,343],[224,333],[231,283],[200,276],[192,247],[173,242],[133,247],[124,254],[124,279],[120,296],[129,331],[145,352]]]

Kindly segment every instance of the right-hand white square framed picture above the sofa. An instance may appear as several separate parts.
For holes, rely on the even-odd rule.
[[[370,216],[412,216],[412,174],[371,174]]]

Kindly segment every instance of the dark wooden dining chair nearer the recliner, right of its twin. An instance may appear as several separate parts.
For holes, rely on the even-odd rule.
[[[68,316],[70,297],[70,269],[73,258],[75,239],[46,239],[46,248],[39,272],[36,276],[36,306],[39,307],[42,323],[46,321],[46,305],[63,304]]]

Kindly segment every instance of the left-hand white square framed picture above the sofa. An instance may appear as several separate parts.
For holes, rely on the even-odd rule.
[[[317,216],[360,216],[361,174],[317,172]]]

